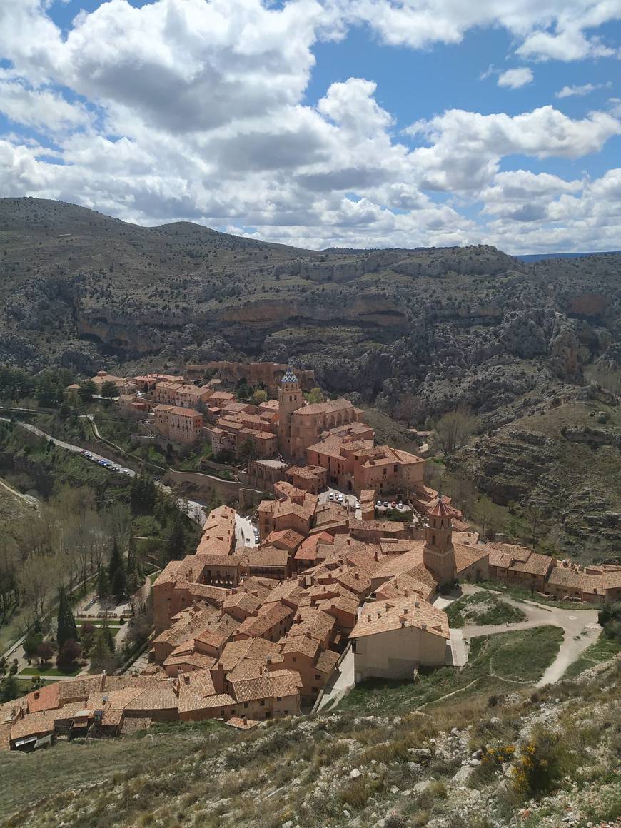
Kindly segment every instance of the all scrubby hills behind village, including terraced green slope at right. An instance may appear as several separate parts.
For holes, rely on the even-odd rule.
[[[620,273],[616,253],[313,252],[2,199],[0,364],[289,362],[410,450],[388,416],[421,427],[460,409],[474,439],[446,470],[507,510],[496,531],[601,561],[621,543]],[[537,537],[523,515],[532,506],[544,512]]]

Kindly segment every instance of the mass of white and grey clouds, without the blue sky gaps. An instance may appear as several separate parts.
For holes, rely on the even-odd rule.
[[[602,244],[619,230],[614,171],[594,182],[500,171],[505,156],[599,151],[621,132],[614,102],[576,119],[551,106],[515,116],[450,109],[402,134],[373,79],[339,80],[305,101],[315,42],[354,23],[408,46],[504,26],[518,49],[537,32],[584,34],[584,24],[593,50],[594,9],[605,22],[606,2],[109,0],[80,12],[66,35],[49,6],[0,0],[0,56],[11,61],[0,70],[0,111],[12,122],[0,137],[4,193],[310,248],[511,250],[556,243],[561,224],[588,226]],[[531,80],[521,67],[498,83]],[[474,219],[464,205],[483,212]]]

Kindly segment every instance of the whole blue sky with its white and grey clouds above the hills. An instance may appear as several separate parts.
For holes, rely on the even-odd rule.
[[[540,5],[0,0],[0,187],[312,248],[618,248],[621,12]]]

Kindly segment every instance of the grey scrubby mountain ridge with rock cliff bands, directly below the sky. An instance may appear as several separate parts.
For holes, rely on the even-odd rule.
[[[322,253],[194,224],[0,200],[0,363],[266,359],[421,419],[580,386],[621,353],[621,257],[518,262],[485,246]]]

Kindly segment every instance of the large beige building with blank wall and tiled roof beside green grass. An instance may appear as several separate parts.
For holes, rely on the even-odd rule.
[[[421,665],[445,663],[449,620],[423,599],[364,604],[349,638],[356,683],[368,678],[412,679]]]

